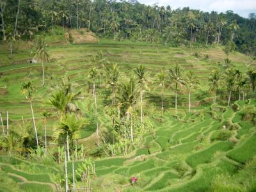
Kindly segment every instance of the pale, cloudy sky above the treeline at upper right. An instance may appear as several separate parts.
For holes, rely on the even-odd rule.
[[[225,13],[232,10],[238,15],[248,18],[249,13],[256,13],[256,0],[138,0],[140,3],[158,6],[170,5],[172,9],[189,8],[204,12],[216,11]]]

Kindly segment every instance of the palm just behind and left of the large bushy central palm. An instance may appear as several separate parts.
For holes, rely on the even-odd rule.
[[[118,78],[120,76],[119,67],[117,64],[112,64],[111,67],[107,68],[108,70],[108,83],[112,87],[112,104],[116,104],[116,85],[118,83]]]

